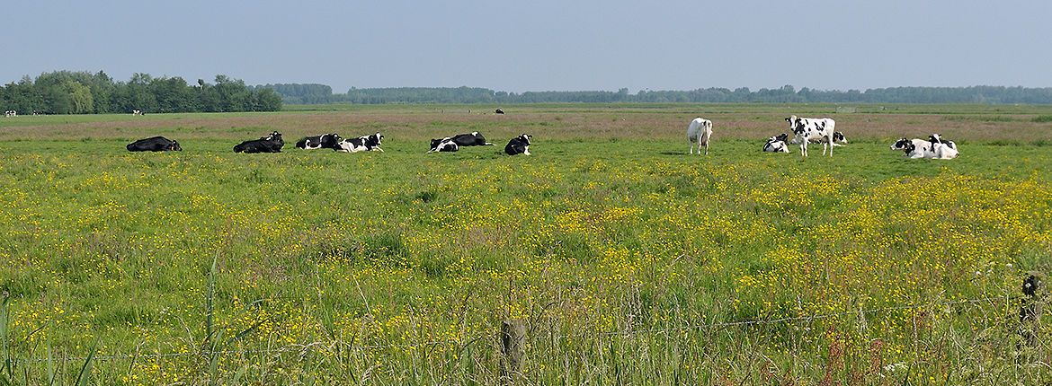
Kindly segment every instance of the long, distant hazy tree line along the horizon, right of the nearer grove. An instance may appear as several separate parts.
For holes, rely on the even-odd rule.
[[[817,90],[791,85],[781,88],[699,88],[688,91],[494,91],[479,87],[355,88],[332,93],[320,84],[280,84],[270,88],[289,104],[392,104],[392,103],[978,103],[1052,104],[1052,87],[891,87],[859,90]]]

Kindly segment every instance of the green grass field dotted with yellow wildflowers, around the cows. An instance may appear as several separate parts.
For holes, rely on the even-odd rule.
[[[497,384],[505,320],[522,384],[1052,383],[1050,106],[289,110],[0,119],[0,385]],[[762,153],[790,113],[851,143]],[[932,132],[960,157],[888,150]]]

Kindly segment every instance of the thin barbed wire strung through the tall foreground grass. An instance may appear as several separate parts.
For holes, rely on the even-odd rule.
[[[276,298],[292,298],[292,297],[268,297],[265,299],[276,299]],[[943,301],[943,302],[925,302],[916,304],[903,304],[903,305],[892,305],[884,307],[872,307],[872,308],[861,308],[856,310],[844,310],[836,313],[826,313],[816,314],[808,316],[796,316],[796,317],[782,317],[774,319],[747,319],[747,320],[736,320],[736,321],[725,321],[725,322],[711,322],[711,323],[697,323],[688,324],[680,326],[670,326],[663,328],[645,328],[645,329],[625,329],[625,330],[610,330],[610,331],[599,331],[599,333],[588,333],[592,336],[639,336],[639,335],[652,335],[652,334],[669,334],[669,333],[682,333],[688,330],[705,330],[705,329],[717,329],[717,328],[730,328],[730,327],[751,327],[760,325],[774,325],[784,323],[794,323],[794,322],[814,322],[831,318],[844,317],[844,316],[854,316],[858,315],[863,318],[866,315],[874,314],[885,314],[896,310],[907,310],[907,309],[922,309],[922,308],[933,308],[933,307],[948,307],[956,306],[963,304],[980,304],[990,303],[1004,305],[1005,307],[1016,306],[1012,302],[1019,301],[1024,299],[1025,296],[1012,296],[1006,294],[1005,296],[984,296],[978,298],[953,300],[953,301]],[[259,299],[259,300],[265,300]],[[257,301],[259,301],[257,300]],[[45,362],[82,362],[90,358],[92,361],[120,361],[120,360],[159,360],[166,358],[186,358],[186,357],[199,357],[208,358],[215,356],[246,356],[246,355],[282,355],[282,353],[299,353],[306,355],[310,350],[319,347],[327,347],[332,345],[341,345],[349,347],[352,349],[360,350],[378,350],[378,349],[388,349],[388,348],[408,348],[411,346],[422,347],[422,346],[434,346],[434,345],[458,345],[459,350],[464,350],[468,346],[485,340],[498,341],[501,339],[501,328],[494,328],[492,331],[484,331],[471,339],[445,339],[445,340],[433,340],[425,342],[414,342],[414,343],[392,343],[392,344],[353,344],[352,342],[345,341],[329,341],[329,342],[312,342],[306,344],[289,344],[281,347],[275,348],[262,348],[262,349],[207,349],[202,347],[198,350],[187,350],[187,351],[177,351],[177,352],[130,352],[130,353],[113,353],[113,355],[101,355],[92,357],[60,357],[60,358],[24,358],[17,359],[11,358],[7,361],[12,365],[23,365],[23,364],[39,364]],[[570,334],[557,334],[546,338],[554,339],[566,339],[571,337],[576,337],[580,335]]]

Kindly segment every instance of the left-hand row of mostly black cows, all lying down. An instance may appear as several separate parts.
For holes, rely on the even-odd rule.
[[[504,147],[504,152],[508,155],[517,154],[529,154],[530,135],[522,134],[511,141],[508,141],[508,145]],[[341,151],[347,153],[357,153],[359,151],[384,151],[380,148],[384,140],[384,135],[377,132],[376,134],[362,135],[356,138],[343,138],[337,133],[326,133],[315,136],[305,136],[296,143],[296,147],[303,150],[318,150],[318,149],[331,149],[333,151]],[[457,134],[453,136],[446,136],[441,140],[431,140],[431,148],[428,153],[431,152],[450,152],[460,150],[461,146],[492,146],[492,143],[486,142],[486,137],[480,134],[478,131],[470,133]],[[280,132],[271,132],[267,136],[260,137],[259,140],[249,140],[242,142],[234,147],[235,153],[280,153],[281,149],[285,147],[285,141],[282,140]],[[183,148],[179,146],[179,143],[165,138],[163,136],[151,136],[148,138],[143,138],[130,143],[127,145],[128,151],[182,151]]]

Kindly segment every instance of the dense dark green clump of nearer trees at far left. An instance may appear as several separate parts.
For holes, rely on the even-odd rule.
[[[223,74],[215,83],[188,84],[180,77],[138,72],[121,82],[103,71],[54,71],[0,86],[0,109],[20,114],[277,111],[281,106],[272,89],[251,88]]]

